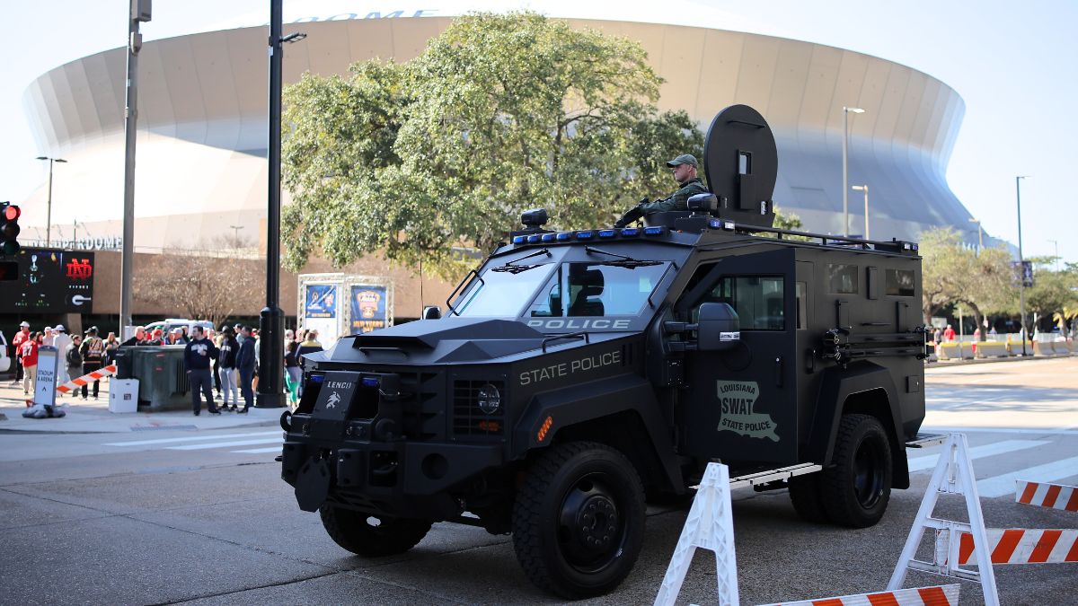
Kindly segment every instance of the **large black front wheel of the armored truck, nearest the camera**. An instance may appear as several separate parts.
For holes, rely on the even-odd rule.
[[[555,444],[517,490],[513,548],[540,589],[594,597],[633,569],[644,523],[644,486],[624,455],[594,442]]]

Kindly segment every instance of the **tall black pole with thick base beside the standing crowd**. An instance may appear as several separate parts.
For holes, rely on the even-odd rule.
[[[257,407],[285,405],[281,360],[285,358],[285,313],[280,309],[280,92],[285,42],[305,33],[281,37],[284,0],[270,1],[270,202],[266,216],[266,306],[259,317],[259,392]],[[239,231],[236,231],[239,234]]]

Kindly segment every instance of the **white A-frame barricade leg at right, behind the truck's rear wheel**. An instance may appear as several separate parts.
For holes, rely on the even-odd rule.
[[[941,494],[963,495],[966,500],[966,513],[969,522],[957,522],[934,518],[936,502]],[[917,560],[917,548],[925,531],[936,531],[936,546],[932,550],[932,561]],[[925,498],[913,520],[910,536],[906,539],[902,555],[890,576],[887,589],[895,591],[902,588],[909,570],[922,570],[943,577],[966,579],[981,583],[985,606],[999,606],[999,594],[996,591],[996,577],[992,571],[992,562],[987,549],[972,550],[977,570],[959,567],[957,554],[959,536],[968,535],[971,543],[978,547],[989,546],[987,533],[984,529],[984,515],[981,513],[981,499],[977,494],[977,477],[973,474],[973,464],[969,459],[969,444],[963,433],[951,433],[943,443],[932,478],[928,481]]]

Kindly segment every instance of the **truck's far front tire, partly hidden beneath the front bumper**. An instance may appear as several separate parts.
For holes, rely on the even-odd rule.
[[[318,514],[335,543],[367,557],[404,553],[430,531],[426,520],[372,515],[332,505],[321,506]]]

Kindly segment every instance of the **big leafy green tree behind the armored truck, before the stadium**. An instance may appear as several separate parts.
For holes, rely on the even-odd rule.
[[[609,224],[673,190],[663,161],[700,155],[660,84],[639,44],[534,13],[462,17],[406,64],[306,74],[285,95],[286,266],[317,248],[448,275],[454,247],[493,248],[527,208]]]

